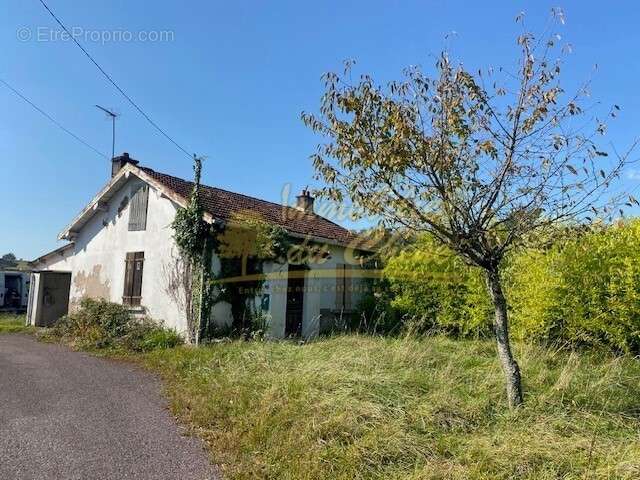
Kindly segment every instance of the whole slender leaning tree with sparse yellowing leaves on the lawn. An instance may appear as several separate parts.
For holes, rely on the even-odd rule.
[[[559,10],[553,19],[562,20]],[[558,225],[611,218],[622,200],[607,191],[628,162],[597,144],[606,126],[588,84],[573,95],[561,86],[559,40],[523,31],[513,71],[472,73],[444,52],[434,78],[412,67],[386,87],[367,75],[353,83],[347,64],[343,75],[325,75],[320,114],[302,115],[328,139],[313,156],[322,194],[349,198],[383,225],[429,233],[481,269],[512,407],[523,395],[505,255]]]

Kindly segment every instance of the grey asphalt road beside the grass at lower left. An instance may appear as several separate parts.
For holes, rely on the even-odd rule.
[[[23,335],[0,335],[0,479],[215,479],[156,378]]]

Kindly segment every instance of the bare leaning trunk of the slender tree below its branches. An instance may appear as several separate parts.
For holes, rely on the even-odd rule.
[[[507,300],[502,292],[502,282],[500,280],[500,272],[497,268],[487,270],[485,272],[487,280],[487,288],[493,300],[495,308],[495,332],[496,342],[498,344],[498,357],[502,364],[507,381],[507,398],[509,399],[509,407],[514,408],[522,405],[522,381],[520,379],[520,367],[518,362],[513,358],[511,353],[511,344],[509,342],[509,319],[507,317]]]

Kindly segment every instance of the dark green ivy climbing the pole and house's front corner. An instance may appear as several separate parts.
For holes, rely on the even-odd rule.
[[[191,264],[191,302],[186,312],[189,342],[198,344],[215,334],[210,322],[213,306],[221,301],[231,305],[233,330],[251,330],[255,312],[252,300],[262,291],[266,261],[285,261],[290,249],[286,230],[240,212],[227,222],[207,223],[200,201],[202,160],[194,156],[194,187],[185,208],[179,208],[172,223],[180,253]],[[213,255],[220,259],[220,271],[212,270]]]

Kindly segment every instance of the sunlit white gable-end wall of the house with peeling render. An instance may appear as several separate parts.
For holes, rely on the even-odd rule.
[[[131,178],[109,200],[107,210],[97,212],[78,232],[73,249],[47,262],[47,270],[71,271],[71,308],[82,297],[122,303],[127,252],[144,252],[142,306],[155,320],[186,331],[185,315],[171,298],[167,269],[175,263],[176,246],[171,221],[176,205],[149,189],[147,228],[129,231],[129,201],[141,181]]]

